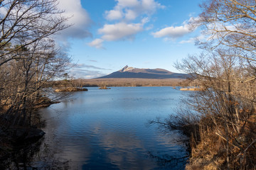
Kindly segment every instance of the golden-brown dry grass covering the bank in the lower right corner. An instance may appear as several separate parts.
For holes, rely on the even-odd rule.
[[[201,141],[192,146],[187,170],[227,169],[227,141],[218,134],[225,134],[225,127],[210,127],[210,118],[201,120]],[[209,126],[208,126],[209,125]],[[240,134],[229,135],[230,169],[256,169],[256,115],[241,122]]]

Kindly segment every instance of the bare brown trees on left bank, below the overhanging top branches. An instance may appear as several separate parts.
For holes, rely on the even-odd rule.
[[[46,88],[49,81],[60,77],[68,69],[70,58],[55,50],[52,40],[33,43],[31,48],[18,52],[18,60],[12,60],[2,66],[8,77],[1,77],[1,108],[9,108],[5,118],[11,118],[4,125],[31,125],[33,108],[43,102],[49,102]],[[11,69],[11,72],[10,72]],[[11,89],[11,90],[10,90]],[[7,116],[7,117],[6,117]]]

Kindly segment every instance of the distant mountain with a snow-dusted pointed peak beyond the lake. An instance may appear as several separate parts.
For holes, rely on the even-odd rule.
[[[139,79],[186,79],[188,74],[169,72],[166,69],[137,69],[128,67],[127,65],[117,72],[113,72],[104,77],[96,79],[107,78],[139,78]]]

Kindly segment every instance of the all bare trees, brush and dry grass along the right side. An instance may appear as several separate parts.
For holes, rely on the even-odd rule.
[[[191,26],[207,37],[203,52],[176,68],[196,86],[177,115],[160,123],[189,137],[186,169],[256,169],[255,1],[210,0]]]

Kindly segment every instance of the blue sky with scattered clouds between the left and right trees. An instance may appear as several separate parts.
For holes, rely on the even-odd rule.
[[[125,65],[178,72],[174,62],[199,52],[188,21],[202,0],[60,0],[70,28],[56,41],[77,64],[70,74],[90,79]]]

